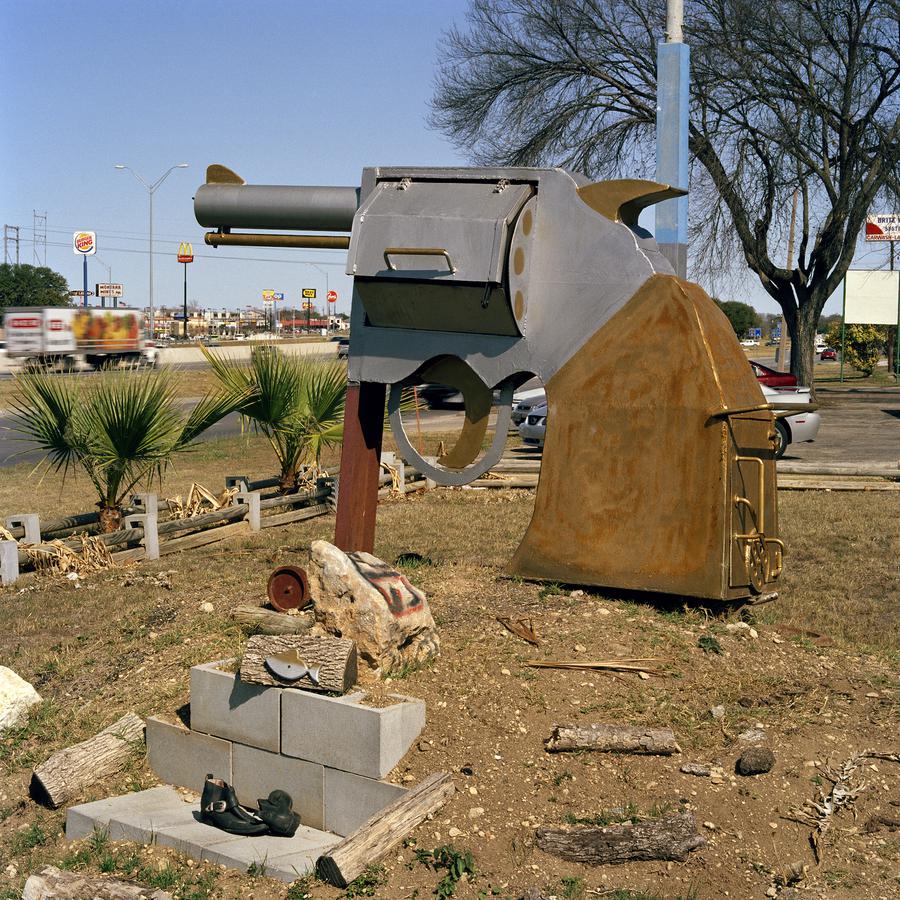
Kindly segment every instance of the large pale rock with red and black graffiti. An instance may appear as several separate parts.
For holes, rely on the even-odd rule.
[[[359,658],[388,675],[430,662],[440,641],[425,594],[371,553],[313,541],[307,568],[316,619],[356,641]]]

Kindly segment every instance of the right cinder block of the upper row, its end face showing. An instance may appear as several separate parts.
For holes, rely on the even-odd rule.
[[[285,688],[281,752],[333,769],[383,778],[425,727],[425,703],[392,695],[393,706],[363,706],[363,694],[325,697]]]

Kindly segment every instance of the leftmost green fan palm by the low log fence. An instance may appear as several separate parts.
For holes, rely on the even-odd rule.
[[[239,405],[207,395],[185,415],[170,371],[16,377],[12,430],[46,454],[63,476],[82,469],[97,490],[100,529],[116,531],[122,504],[138,484],[159,481],[172,457]]]

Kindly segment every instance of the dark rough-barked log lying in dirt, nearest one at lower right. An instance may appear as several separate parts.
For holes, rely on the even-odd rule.
[[[616,865],[634,860],[682,862],[688,853],[706,845],[689,812],[621,825],[575,825],[538,828],[535,846],[572,862],[589,866]]]

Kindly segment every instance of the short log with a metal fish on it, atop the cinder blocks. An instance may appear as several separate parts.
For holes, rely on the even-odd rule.
[[[287,650],[297,650],[307,667],[318,666],[318,684],[314,684],[308,677],[288,681],[278,678],[269,671],[266,667],[266,657],[277,656]],[[241,681],[250,684],[270,684],[276,687],[296,687],[306,691],[344,694],[356,684],[356,674],[356,644],[353,641],[330,636],[258,634],[247,641],[247,649],[241,660],[240,678]]]

